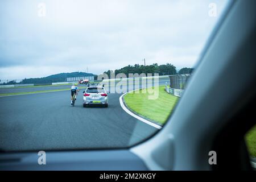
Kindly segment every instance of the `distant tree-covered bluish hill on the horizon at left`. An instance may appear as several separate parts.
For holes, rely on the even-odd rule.
[[[50,75],[42,78],[25,78],[19,84],[48,84],[52,82],[64,82],[67,81],[68,77],[84,77],[84,76],[97,76],[93,73],[85,73],[85,72],[73,72],[73,73],[59,73],[56,75]],[[8,84],[10,84],[8,82]]]

